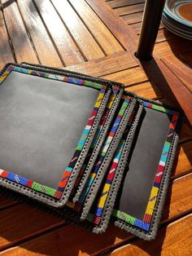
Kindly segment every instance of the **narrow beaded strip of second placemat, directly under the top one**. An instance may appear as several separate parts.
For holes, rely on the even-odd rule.
[[[110,99],[109,99],[109,102],[107,104],[107,107],[106,107],[106,109],[105,109],[105,111],[103,113],[103,117],[101,118],[101,121],[100,121],[100,123],[98,125],[98,128],[96,130],[96,133],[94,135],[94,139],[93,139],[93,141],[91,143],[91,146],[89,148],[89,152],[88,152],[87,157],[85,159],[85,164],[82,166],[81,171],[80,171],[80,173],[79,173],[79,175],[78,175],[78,177],[76,179],[76,183],[75,183],[73,191],[72,191],[72,196],[74,196],[74,194],[76,192],[76,188],[78,187],[78,185],[79,185],[79,183],[81,181],[81,178],[82,178],[83,174],[85,173],[86,166],[87,166],[87,164],[89,162],[89,157],[92,155],[92,153],[94,151],[94,147],[96,146],[96,144],[98,142],[98,138],[99,138],[99,136],[100,136],[100,134],[101,134],[101,132],[103,130],[103,126],[105,125],[105,123],[107,121],[107,117],[109,116],[111,107],[114,104],[114,101],[116,99],[116,95],[117,95],[117,93],[119,91],[119,88],[116,87],[116,86],[113,86],[112,89],[113,89],[112,90],[112,94],[110,96]]]

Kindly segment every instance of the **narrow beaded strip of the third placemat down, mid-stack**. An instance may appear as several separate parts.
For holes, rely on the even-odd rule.
[[[85,202],[85,198],[89,192],[89,188],[91,187],[92,183],[94,182],[94,179],[96,178],[99,167],[102,165],[103,159],[107,154],[107,149],[110,147],[111,141],[112,141],[113,137],[116,135],[116,130],[117,130],[118,126],[120,126],[120,121],[121,121],[122,117],[124,116],[124,112],[125,112],[126,108],[128,108],[128,106],[129,106],[129,101],[131,98],[129,96],[123,96],[122,98],[124,99],[124,102],[120,108],[120,111],[116,117],[116,120],[114,121],[114,123],[111,127],[111,130],[109,132],[109,135],[107,136],[107,139],[103,145],[103,148],[99,152],[98,159],[97,159],[96,163],[94,164],[94,168],[93,168],[92,172],[89,174],[89,178],[87,179],[87,182],[85,183],[85,188],[81,192],[80,199],[78,202],[76,202],[76,204],[74,206],[74,210],[76,210],[78,212],[81,212],[81,210],[82,210],[82,207]]]

